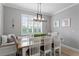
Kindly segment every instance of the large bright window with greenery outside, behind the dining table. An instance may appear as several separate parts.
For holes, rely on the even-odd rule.
[[[21,35],[42,32],[42,22],[33,21],[32,15],[21,15]]]

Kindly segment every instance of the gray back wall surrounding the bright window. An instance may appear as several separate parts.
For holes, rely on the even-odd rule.
[[[16,35],[20,35],[21,32],[21,14],[29,14],[29,15],[35,15],[32,12],[29,11],[23,11],[11,7],[4,6],[4,34],[11,34],[14,33]],[[43,23],[43,32],[50,32],[50,18],[51,16],[44,16],[47,20],[47,23]],[[11,27],[12,19],[14,19],[15,28],[13,29]]]

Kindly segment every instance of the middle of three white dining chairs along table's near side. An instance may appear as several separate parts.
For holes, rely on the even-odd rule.
[[[50,36],[45,36],[44,38],[44,56],[51,55],[52,39]]]

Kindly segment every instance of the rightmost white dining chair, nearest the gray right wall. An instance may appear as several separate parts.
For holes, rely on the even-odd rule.
[[[54,56],[61,56],[61,39],[59,34],[54,35]]]

